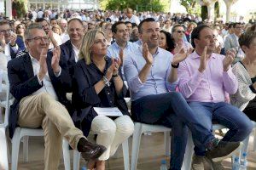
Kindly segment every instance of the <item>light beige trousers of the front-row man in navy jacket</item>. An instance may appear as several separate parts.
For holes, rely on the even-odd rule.
[[[74,126],[65,106],[47,93],[20,100],[18,124],[20,127],[43,127],[45,170],[58,169],[63,137],[75,150],[79,139],[85,138],[82,131]]]

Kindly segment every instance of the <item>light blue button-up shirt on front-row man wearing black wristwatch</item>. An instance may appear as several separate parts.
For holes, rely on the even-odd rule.
[[[138,77],[143,70],[146,60],[143,58],[142,46],[127,54],[124,61],[125,79],[131,91],[131,101],[150,94],[164,94],[175,90],[177,82],[168,82],[172,71],[173,55],[162,48],[157,48],[153,55],[154,61],[146,82]]]

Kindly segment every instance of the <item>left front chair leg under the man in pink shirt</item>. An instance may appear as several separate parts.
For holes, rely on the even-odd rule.
[[[183,170],[188,170],[191,168],[193,152],[194,152],[194,143],[192,139],[192,133],[189,131],[186,152],[183,160],[183,167],[182,167]]]

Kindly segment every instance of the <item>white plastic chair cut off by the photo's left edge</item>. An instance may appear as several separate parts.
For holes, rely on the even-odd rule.
[[[9,116],[9,105],[10,105],[10,100],[9,100],[9,79],[8,79],[8,74],[6,71],[1,71],[0,72],[2,80],[2,92],[6,93],[5,99],[0,100],[0,107],[5,108],[5,114],[4,114],[4,120],[3,122],[0,122],[0,164],[3,167],[3,169],[8,170],[9,165],[8,165],[8,145],[6,142],[6,127],[8,126],[8,116]],[[0,112],[1,117],[2,117],[2,112]]]

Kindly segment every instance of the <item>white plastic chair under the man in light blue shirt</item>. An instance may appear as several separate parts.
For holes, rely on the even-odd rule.
[[[165,133],[165,150],[166,156],[170,156],[170,149],[171,149],[171,137],[170,132],[172,131],[171,128],[160,126],[160,125],[149,125],[141,122],[134,123],[134,133],[132,138],[132,150],[131,150],[131,170],[137,169],[137,159],[139,153],[139,147],[141,143],[141,136],[144,132],[164,132]]]

